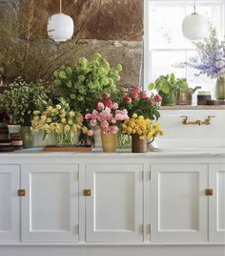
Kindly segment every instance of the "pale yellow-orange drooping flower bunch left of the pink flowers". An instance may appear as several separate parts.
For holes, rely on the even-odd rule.
[[[81,129],[83,116],[74,112],[69,103],[60,98],[58,104],[48,104],[41,112],[33,111],[33,133],[44,131],[45,139],[51,132],[57,135],[57,144],[72,144],[73,135]]]

